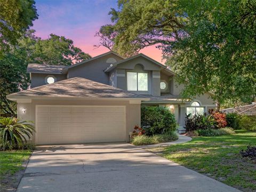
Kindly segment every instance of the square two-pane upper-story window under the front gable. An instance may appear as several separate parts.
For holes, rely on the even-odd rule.
[[[127,72],[127,91],[148,91],[148,74]]]

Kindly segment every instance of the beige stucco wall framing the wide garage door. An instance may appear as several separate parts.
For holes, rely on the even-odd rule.
[[[61,105],[61,106],[125,106],[126,108],[126,141],[129,141],[129,133],[133,131],[134,125],[140,126],[140,104],[130,104],[129,101],[114,100],[63,100],[63,99],[47,99],[32,100],[31,103],[20,103],[17,106],[18,117],[36,123],[36,105]],[[24,114],[21,109],[26,108]],[[32,142],[35,141],[35,134]]]

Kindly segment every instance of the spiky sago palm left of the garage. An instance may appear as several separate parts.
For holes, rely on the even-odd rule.
[[[33,122],[10,117],[0,118],[0,150],[22,147],[27,143],[27,138],[31,138],[33,131]]]

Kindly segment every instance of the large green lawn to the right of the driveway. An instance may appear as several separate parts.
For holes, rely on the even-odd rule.
[[[256,191],[256,162],[239,154],[249,144],[256,145],[256,132],[195,137],[187,143],[149,150],[229,186]]]

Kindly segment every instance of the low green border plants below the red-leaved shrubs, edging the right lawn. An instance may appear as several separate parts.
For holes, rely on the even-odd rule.
[[[232,135],[235,131],[231,127],[225,127],[221,129],[206,129],[206,130],[196,130],[194,131],[197,136],[212,137],[221,135]]]

